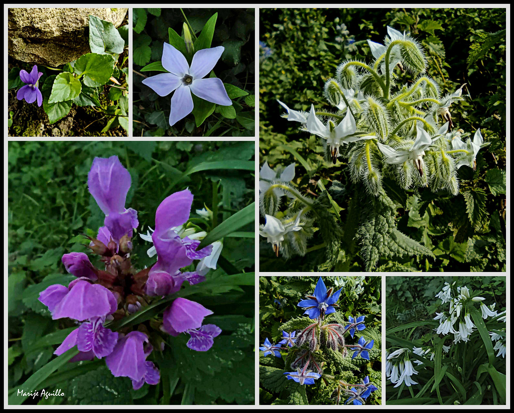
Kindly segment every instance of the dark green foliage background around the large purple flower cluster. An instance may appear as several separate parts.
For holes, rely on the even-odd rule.
[[[173,192],[189,187],[192,214],[216,203],[217,222],[254,201],[253,172],[219,169],[183,176],[206,162],[249,162],[253,142],[10,142],[8,145],[8,364],[9,389],[18,388],[53,358],[52,352],[72,327],[53,321],[38,300],[38,283],[66,284],[75,278],[61,264],[64,253],[87,252],[81,233],[96,234],[103,214],[87,190],[87,173],[95,156],[117,155],[132,176],[127,206],[138,211],[139,233],[153,228],[155,210]],[[253,167],[252,167],[253,170]],[[224,239],[218,269],[207,280],[254,271],[254,223],[241,228],[244,238]],[[151,265],[150,244],[134,236],[132,262]],[[207,281],[206,281],[207,282]],[[45,287],[43,287],[45,288]],[[41,385],[62,389],[65,397],[40,404],[253,404],[254,290],[251,285],[223,285],[195,296],[214,312],[209,323],[222,328],[213,348],[197,353],[187,337],[168,337],[164,358],[154,351],[161,370],[157,386],[132,390],[127,378],[115,378],[103,360],[67,363]],[[68,331],[69,333],[69,331]],[[227,380],[217,380],[226,374]],[[34,389],[31,389],[34,390]],[[11,394],[11,393],[9,393]],[[37,403],[29,398],[26,403]]]

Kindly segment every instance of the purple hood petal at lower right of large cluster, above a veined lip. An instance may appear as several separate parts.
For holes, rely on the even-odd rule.
[[[186,298],[177,298],[164,311],[164,325],[169,323],[175,331],[182,333],[189,329],[200,328],[204,317],[210,314],[213,312],[201,304]]]

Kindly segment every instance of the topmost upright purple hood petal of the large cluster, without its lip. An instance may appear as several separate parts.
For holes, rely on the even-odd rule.
[[[105,215],[125,212],[131,177],[117,156],[95,158],[87,175],[87,185]]]

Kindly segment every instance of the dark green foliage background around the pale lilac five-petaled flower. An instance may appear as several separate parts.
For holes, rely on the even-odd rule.
[[[214,70],[216,77],[248,93],[233,99],[235,112],[217,106],[214,114],[196,127],[193,115],[169,125],[171,96],[159,97],[141,84],[139,70],[150,62],[160,62],[162,45],[169,43],[168,28],[183,37],[185,22],[180,9],[134,9],[134,135],[135,136],[255,136],[255,17],[254,9],[183,8],[198,35],[209,18],[217,13],[212,46],[224,46]],[[144,72],[153,76],[158,72]]]

